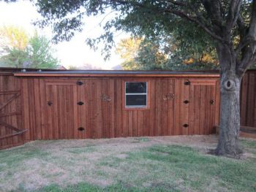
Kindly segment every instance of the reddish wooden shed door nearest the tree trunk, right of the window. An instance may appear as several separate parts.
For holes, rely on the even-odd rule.
[[[217,80],[189,80],[189,85],[184,85],[182,134],[214,133],[216,83]]]

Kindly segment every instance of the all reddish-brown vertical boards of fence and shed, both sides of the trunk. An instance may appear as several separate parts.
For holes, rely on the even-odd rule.
[[[77,85],[78,80],[83,85]],[[148,110],[124,110],[124,82],[135,80],[150,85]],[[189,77],[191,84],[186,86],[187,80],[13,77],[11,72],[0,72],[0,149],[36,139],[212,134],[219,123],[219,80]],[[242,126],[256,127],[255,81],[256,71],[246,72]]]

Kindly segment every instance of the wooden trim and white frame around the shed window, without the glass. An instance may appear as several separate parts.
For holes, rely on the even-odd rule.
[[[127,82],[146,82],[146,93],[127,93]],[[146,106],[127,106],[127,95],[146,95]],[[124,110],[148,110],[150,107],[150,82],[148,80],[123,80],[123,109]]]

